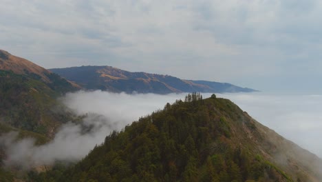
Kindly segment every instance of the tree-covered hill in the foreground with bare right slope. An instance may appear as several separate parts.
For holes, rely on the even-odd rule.
[[[231,101],[190,94],[185,102],[167,103],[111,133],[76,165],[29,176],[30,181],[321,181],[312,160],[321,164]]]

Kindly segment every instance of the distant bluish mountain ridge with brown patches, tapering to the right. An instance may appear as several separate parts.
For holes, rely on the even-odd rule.
[[[230,83],[191,81],[162,74],[127,72],[111,66],[81,66],[51,69],[84,88],[111,92],[168,94],[173,92],[255,92]]]

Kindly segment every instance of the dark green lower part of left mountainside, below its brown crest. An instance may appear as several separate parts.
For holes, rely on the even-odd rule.
[[[65,79],[54,78],[51,83],[28,75],[14,74],[12,71],[0,70],[0,118],[14,128],[21,128],[47,136],[54,134],[61,121],[68,121],[65,108],[56,101],[61,93]]]

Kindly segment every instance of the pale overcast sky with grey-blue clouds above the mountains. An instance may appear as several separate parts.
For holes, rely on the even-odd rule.
[[[264,92],[322,92],[322,1],[0,0],[0,49]]]

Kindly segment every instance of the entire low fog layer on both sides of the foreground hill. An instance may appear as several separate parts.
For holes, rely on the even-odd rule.
[[[81,123],[63,125],[54,140],[34,146],[33,139],[14,141],[17,133],[0,137],[6,146],[7,165],[19,164],[23,168],[51,165],[54,161],[78,161],[96,144],[103,143],[113,130],[139,117],[164,108],[169,102],[184,99],[186,94],[125,94],[102,91],[69,93],[61,101],[76,114],[87,114]],[[204,98],[211,94],[202,94]],[[316,143],[322,134],[322,96],[277,96],[264,93],[217,94],[231,99],[254,119],[267,125],[301,147],[322,156],[322,145]],[[90,130],[83,131],[84,126]],[[21,164],[22,163],[22,164]]]

